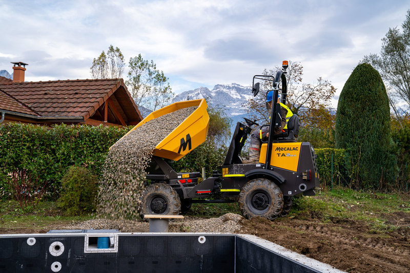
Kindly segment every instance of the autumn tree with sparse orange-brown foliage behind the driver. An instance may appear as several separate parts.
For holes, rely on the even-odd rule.
[[[280,67],[265,69],[262,75],[276,75]],[[325,148],[333,146],[333,131],[335,127],[335,113],[331,108],[331,99],[336,89],[329,80],[319,77],[314,83],[303,83],[303,66],[300,62],[289,61],[286,70],[288,94],[286,104],[301,120],[302,127],[299,140],[313,141]],[[269,122],[269,111],[265,107],[266,91],[273,89],[273,82],[262,80],[259,94],[244,104],[247,112],[258,123]],[[320,138],[325,140],[322,141]]]

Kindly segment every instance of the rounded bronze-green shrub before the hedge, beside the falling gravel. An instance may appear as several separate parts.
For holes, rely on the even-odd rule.
[[[91,213],[96,208],[97,177],[82,166],[71,166],[62,179],[58,207],[70,216]]]

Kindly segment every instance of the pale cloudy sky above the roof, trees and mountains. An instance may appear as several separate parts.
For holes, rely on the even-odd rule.
[[[0,70],[23,61],[29,81],[91,78],[93,58],[113,45],[127,62],[153,59],[175,93],[250,86],[254,74],[292,60],[304,82],[321,76],[338,95],[408,9],[401,0],[0,0]]]

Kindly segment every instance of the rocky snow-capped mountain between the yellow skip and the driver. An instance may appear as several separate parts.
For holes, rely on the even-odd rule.
[[[231,85],[216,85],[212,90],[206,87],[200,87],[185,91],[175,96],[172,102],[204,98],[210,106],[222,105],[226,108],[226,114],[229,117],[235,117],[246,113],[242,104],[247,102],[251,97],[252,90],[250,87],[232,83]]]

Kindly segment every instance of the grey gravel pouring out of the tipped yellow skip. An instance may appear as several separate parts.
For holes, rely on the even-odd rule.
[[[183,108],[152,119],[112,146],[99,184],[99,215],[120,221],[124,225],[130,219],[137,218],[138,199],[144,189],[146,177],[145,169],[155,146],[196,108]]]

